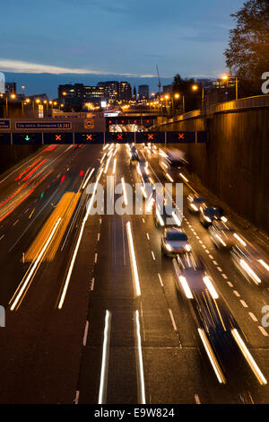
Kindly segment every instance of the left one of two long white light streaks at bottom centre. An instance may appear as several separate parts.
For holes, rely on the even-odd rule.
[[[104,328],[104,340],[103,340],[98,404],[104,404],[107,399],[108,349],[109,349],[109,340],[110,340],[110,328],[111,328],[111,312],[107,310],[106,319],[105,319],[105,328]]]

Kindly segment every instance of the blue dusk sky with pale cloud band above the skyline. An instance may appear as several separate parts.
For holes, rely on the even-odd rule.
[[[217,77],[243,3],[4,0],[0,71]]]

